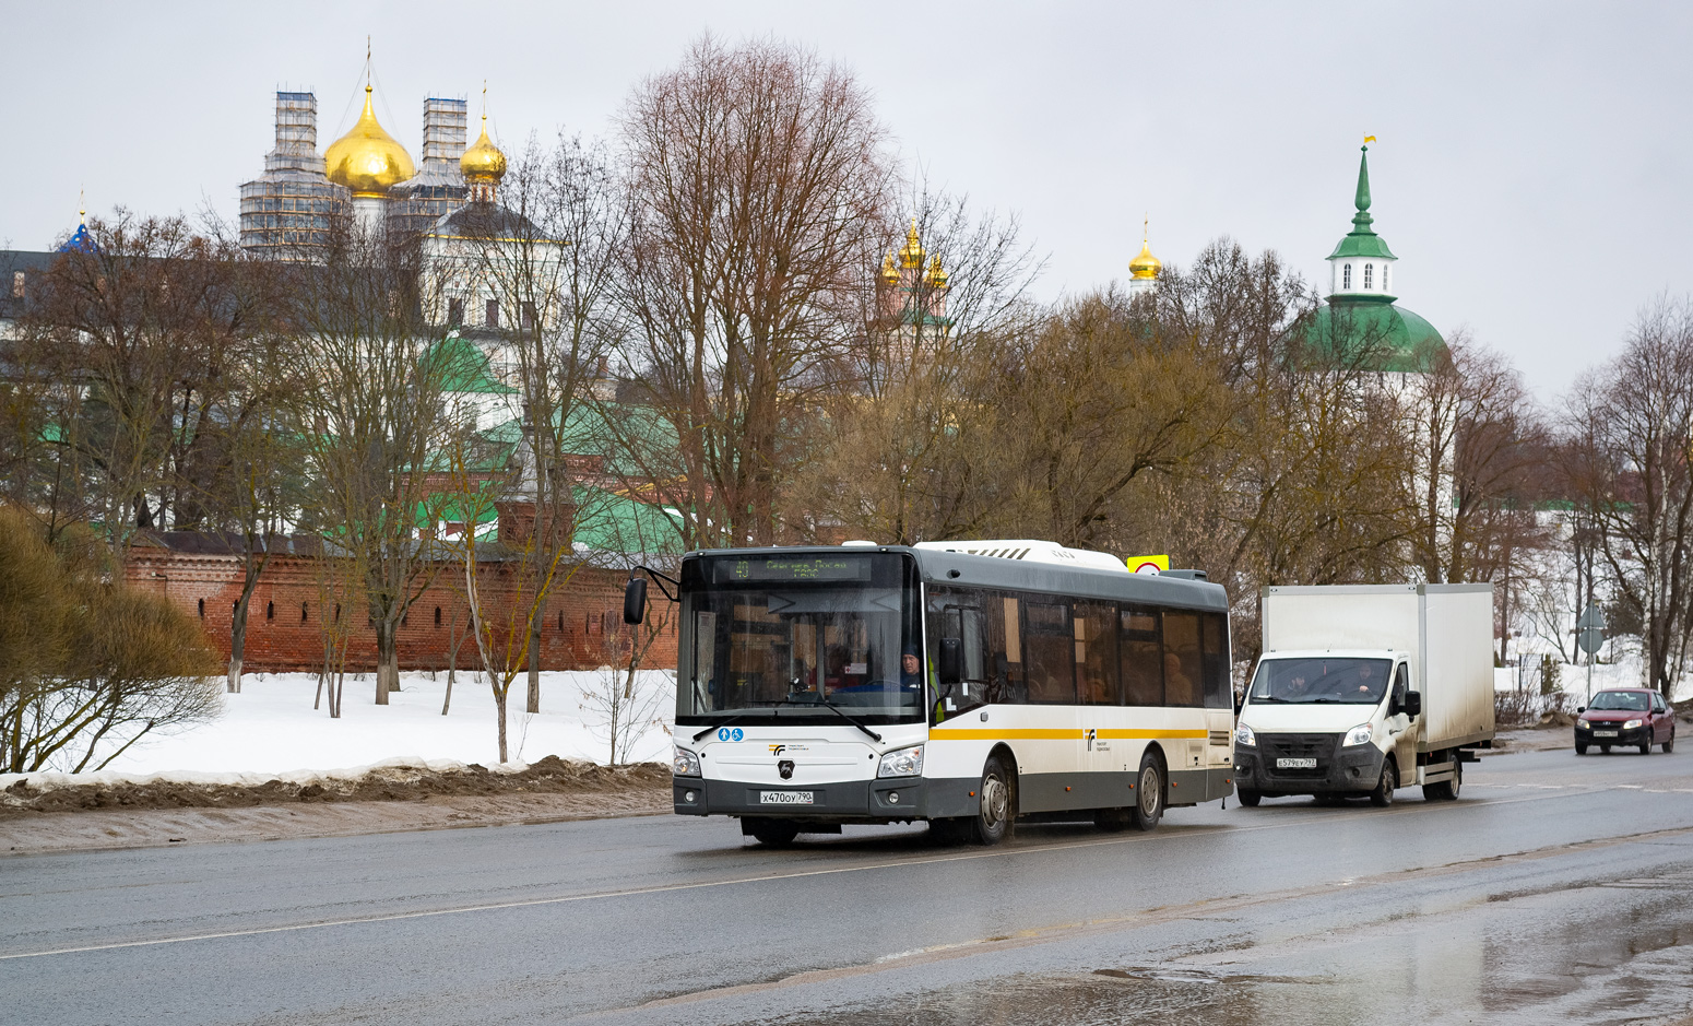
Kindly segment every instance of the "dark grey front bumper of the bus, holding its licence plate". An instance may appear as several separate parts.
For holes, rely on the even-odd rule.
[[[672,801],[682,816],[769,816],[824,823],[896,823],[973,816],[975,779],[882,777],[828,784],[747,784],[674,777]]]

